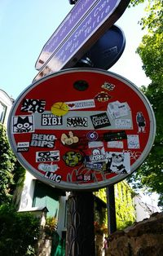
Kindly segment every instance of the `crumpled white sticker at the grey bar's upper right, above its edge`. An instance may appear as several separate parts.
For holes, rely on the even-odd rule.
[[[112,119],[115,119],[118,117],[127,116],[130,112],[130,107],[126,102],[120,103],[118,100],[116,100],[108,104],[107,111]]]

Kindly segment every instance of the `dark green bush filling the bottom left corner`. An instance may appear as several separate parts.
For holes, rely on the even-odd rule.
[[[13,205],[0,206],[0,255],[36,255],[39,219],[29,213],[17,213]]]

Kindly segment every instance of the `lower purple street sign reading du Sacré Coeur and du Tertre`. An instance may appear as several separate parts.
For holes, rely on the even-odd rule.
[[[96,1],[67,39],[46,60],[33,81],[60,69],[73,68],[82,55],[120,18],[129,2],[130,0]]]

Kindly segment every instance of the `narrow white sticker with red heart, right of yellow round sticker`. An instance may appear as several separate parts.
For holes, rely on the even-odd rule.
[[[66,102],[69,110],[80,109],[80,108],[95,108],[94,99],[84,99],[77,101],[68,101]]]

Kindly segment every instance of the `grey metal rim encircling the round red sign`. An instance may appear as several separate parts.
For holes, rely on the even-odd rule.
[[[9,142],[11,144],[11,148],[13,150],[13,152],[15,153],[15,156],[18,158],[18,160],[20,161],[20,164],[22,166],[24,166],[24,168],[26,170],[29,170],[29,166],[26,164],[26,160],[24,162],[24,157],[21,155],[20,156],[20,152],[16,152],[15,150],[15,141],[13,139],[13,136],[11,136],[11,133],[9,132],[11,129],[11,117],[13,116],[13,112],[15,111],[15,107],[16,105],[20,104],[20,101],[22,100],[21,97],[22,95],[24,95],[25,92],[28,93],[28,90],[30,90],[31,87],[35,87],[38,86],[40,83],[50,79],[51,77],[57,77],[59,75],[65,74],[65,73],[77,73],[77,72],[92,72],[92,73],[101,73],[104,75],[108,75],[111,77],[116,78],[117,80],[124,82],[126,84],[126,86],[129,86],[132,90],[134,90],[134,92],[139,95],[139,98],[142,99],[143,104],[145,105],[147,112],[148,112],[148,116],[150,119],[150,132],[149,132],[149,137],[148,137],[148,142],[146,144],[146,147],[143,149],[142,155],[139,157],[139,163],[138,162],[134,162],[134,164],[131,166],[131,171],[130,174],[133,174],[133,172],[135,170],[137,170],[139,168],[139,166],[141,166],[143,164],[143,161],[146,159],[146,157],[148,157],[148,153],[151,151],[152,149],[152,145],[155,139],[155,135],[156,135],[156,119],[155,119],[155,115],[152,109],[151,104],[148,101],[148,98],[143,95],[142,91],[139,89],[138,86],[135,86],[134,83],[130,82],[130,80],[126,79],[126,77],[122,77],[121,75],[117,74],[117,73],[112,73],[112,72],[108,72],[106,70],[103,69],[99,69],[99,68],[68,68],[68,69],[64,69],[64,70],[60,70],[57,73],[53,73],[51,75],[48,75],[46,77],[42,77],[42,79],[38,80],[37,82],[32,83],[31,85],[29,85],[26,89],[24,89],[24,91],[18,96],[18,98],[15,100],[15,103],[13,104],[12,108],[11,108],[11,112],[9,114],[8,117],[8,123],[7,123],[7,134],[8,134],[8,139]],[[33,88],[34,88],[33,87]],[[31,165],[30,165],[31,166]],[[33,166],[32,166],[33,167]],[[86,184],[78,184],[78,183],[71,183],[71,182],[61,182],[61,183],[54,183],[52,182],[50,179],[46,180],[45,178],[43,178],[42,176],[40,176],[39,174],[36,174],[36,171],[30,169],[29,172],[31,174],[33,174],[34,177],[36,177],[37,179],[41,180],[43,183],[48,183],[49,185],[51,185],[52,187],[55,188],[61,188],[64,190],[68,190],[68,191],[75,191],[75,190],[80,190],[80,191],[85,191],[85,190],[89,190],[89,191],[95,191],[96,189],[99,188],[105,188],[108,185],[114,184],[114,183],[118,183],[123,179],[126,179],[126,177],[128,177],[130,174],[117,174],[117,176],[112,177],[110,179],[106,179],[106,181],[100,181],[98,183],[86,183]]]

